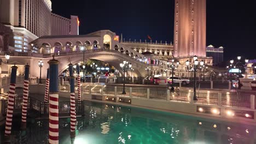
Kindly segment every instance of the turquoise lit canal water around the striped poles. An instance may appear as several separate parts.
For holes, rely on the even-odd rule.
[[[85,110],[78,118],[75,144],[256,143],[256,128],[250,125],[89,101]],[[20,131],[20,121],[14,121],[12,143],[48,143],[48,119],[30,119],[26,131]],[[60,143],[71,143],[69,118],[60,119]]]

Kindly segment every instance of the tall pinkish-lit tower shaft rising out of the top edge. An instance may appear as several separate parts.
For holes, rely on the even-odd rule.
[[[206,57],[206,0],[175,0],[174,57]]]

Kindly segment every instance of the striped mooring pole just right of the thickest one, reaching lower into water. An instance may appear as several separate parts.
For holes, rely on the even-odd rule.
[[[75,127],[77,118],[75,116],[75,93],[74,93],[74,75],[73,64],[68,64],[70,81],[70,137],[75,137]]]

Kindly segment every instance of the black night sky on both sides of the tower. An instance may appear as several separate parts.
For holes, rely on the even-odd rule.
[[[78,15],[79,34],[109,29],[125,40],[173,41],[174,0],[51,0],[53,13]],[[207,45],[223,46],[224,60],[256,58],[256,1],[207,0]]]

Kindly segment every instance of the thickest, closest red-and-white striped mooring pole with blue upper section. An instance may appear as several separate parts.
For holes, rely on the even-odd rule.
[[[57,59],[48,61],[50,65],[49,87],[49,143],[59,143],[59,64]]]

